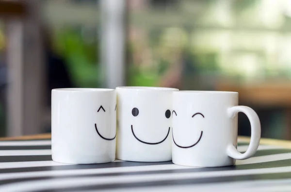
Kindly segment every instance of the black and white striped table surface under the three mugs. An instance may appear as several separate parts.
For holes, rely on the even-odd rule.
[[[46,139],[42,139],[46,138]],[[291,142],[262,139],[250,159],[227,167],[172,162],[74,165],[51,160],[49,137],[0,141],[0,192],[290,192]],[[240,137],[238,149],[248,147]]]

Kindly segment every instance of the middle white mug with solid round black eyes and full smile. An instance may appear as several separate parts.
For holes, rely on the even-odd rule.
[[[133,162],[172,159],[173,88],[118,87],[116,158]]]

